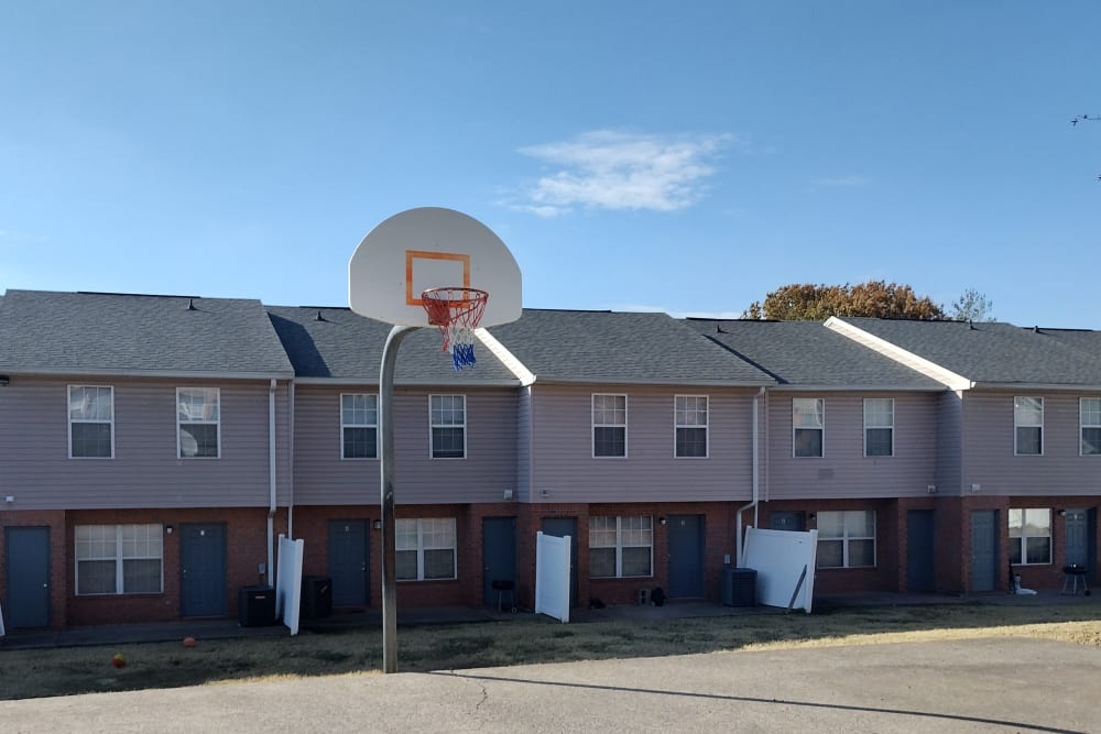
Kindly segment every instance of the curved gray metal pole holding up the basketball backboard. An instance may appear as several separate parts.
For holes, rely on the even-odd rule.
[[[419,327],[395,326],[386,337],[379,373],[379,428],[382,432],[382,672],[397,672],[397,569],[394,522],[394,368],[406,336]]]

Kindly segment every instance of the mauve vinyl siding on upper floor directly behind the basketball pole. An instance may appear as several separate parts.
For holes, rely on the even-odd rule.
[[[297,385],[296,505],[379,504],[378,459],[340,458],[340,394],[363,387]],[[466,395],[466,458],[430,459],[428,395]],[[500,502],[516,491],[515,390],[408,390],[394,395],[397,504]]]

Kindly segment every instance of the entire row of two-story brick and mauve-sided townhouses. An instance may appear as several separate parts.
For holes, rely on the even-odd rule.
[[[380,604],[379,365],[346,308],[0,297],[9,627],[235,616],[304,540],[334,605]],[[401,605],[718,601],[746,526],[817,528],[817,593],[1058,588],[1098,563],[1101,335],[525,309],[456,372],[395,375]]]

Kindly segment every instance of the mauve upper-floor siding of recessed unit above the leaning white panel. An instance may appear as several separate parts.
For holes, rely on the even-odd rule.
[[[792,397],[825,405],[824,456],[792,456]],[[863,398],[894,398],[894,456],[864,456]],[[937,395],[784,393],[768,398],[768,500],[912,497],[937,476]]]

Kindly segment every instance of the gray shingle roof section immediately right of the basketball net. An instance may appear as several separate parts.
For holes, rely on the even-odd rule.
[[[546,382],[775,384],[667,314],[526,308],[489,332]]]

